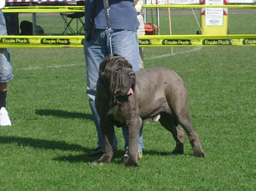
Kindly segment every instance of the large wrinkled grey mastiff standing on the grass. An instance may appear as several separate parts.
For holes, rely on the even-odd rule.
[[[155,67],[135,72],[126,58],[107,56],[100,64],[95,106],[105,146],[103,155],[94,164],[111,162],[114,126],[127,126],[128,159],[125,165],[138,166],[139,131],[142,123],[150,119],[160,121],[173,134],[176,146],[170,154],[184,153],[184,129],[193,154],[205,157],[190,122],[187,89],[173,70]]]

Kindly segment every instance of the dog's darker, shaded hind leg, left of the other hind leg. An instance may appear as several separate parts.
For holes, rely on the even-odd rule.
[[[175,149],[169,153],[172,154],[183,154],[184,153],[184,131],[181,126],[175,124],[174,118],[167,113],[162,113],[159,122],[163,127],[170,131],[173,135],[174,140],[176,141]]]

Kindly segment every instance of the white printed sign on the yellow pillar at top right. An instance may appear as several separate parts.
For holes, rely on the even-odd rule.
[[[206,0],[205,5],[223,5],[223,0]],[[222,26],[223,8],[205,8],[205,25]]]

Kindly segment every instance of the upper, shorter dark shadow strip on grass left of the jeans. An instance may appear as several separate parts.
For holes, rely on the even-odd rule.
[[[47,115],[47,116],[56,116],[61,118],[81,118],[81,119],[89,119],[93,120],[93,116],[91,114],[83,114],[77,112],[68,112],[54,109],[36,109],[36,115]]]

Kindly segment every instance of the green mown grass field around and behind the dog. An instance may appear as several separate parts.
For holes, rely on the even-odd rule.
[[[255,16],[236,23],[242,16],[230,15],[229,32],[256,34]],[[198,30],[185,25],[190,17],[176,17],[175,34]],[[161,32],[168,33],[168,24]],[[82,48],[11,49],[12,126],[0,127],[0,191],[256,190],[255,52],[253,46],[174,47],[171,55],[170,47],[144,48],[145,68],[165,66],[183,78],[207,157],[193,157],[188,138],[184,155],[168,156],[175,146],[171,133],[149,122],[140,166],[126,168],[120,128],[111,164],[93,166],[97,157],[87,156],[97,136]]]

